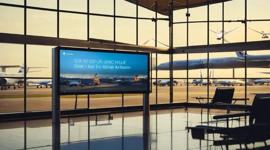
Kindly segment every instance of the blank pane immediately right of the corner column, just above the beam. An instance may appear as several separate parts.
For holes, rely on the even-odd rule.
[[[173,25],[173,47],[187,46],[187,23]]]

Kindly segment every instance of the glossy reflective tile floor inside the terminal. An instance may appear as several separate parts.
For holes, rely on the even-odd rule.
[[[209,125],[225,127],[226,121],[211,119],[215,115],[226,114],[226,110],[203,110],[199,108],[188,110],[170,109],[150,111],[149,119],[143,118],[142,112],[78,117],[61,119],[61,150],[141,150],[148,144],[151,150],[210,150],[222,149],[221,146],[211,146],[212,141],[193,140],[191,132],[186,127]],[[238,111],[239,112],[239,111]],[[231,111],[230,113],[237,113]],[[90,120],[90,121],[88,121]],[[149,134],[143,134],[149,121]],[[229,127],[248,125],[248,117],[240,121],[230,121]],[[221,140],[220,135],[214,135],[215,140]],[[205,134],[205,138],[213,140],[213,134]],[[147,140],[148,139],[148,140]],[[147,142],[145,142],[147,141]],[[148,142],[149,141],[149,142]],[[267,141],[267,144],[270,144]],[[0,150],[50,150],[52,148],[52,120],[34,120],[23,122],[0,123]],[[255,143],[254,147],[264,143]],[[211,146],[211,147],[210,147]],[[253,144],[248,145],[253,148]],[[239,145],[229,146],[229,149],[239,149]],[[226,149],[223,146],[223,149]]]

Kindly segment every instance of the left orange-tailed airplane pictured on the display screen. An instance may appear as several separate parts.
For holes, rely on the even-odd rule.
[[[103,77],[103,78],[100,78],[100,79],[104,79],[104,78],[107,78],[107,77]],[[79,82],[80,81],[80,82]],[[95,74],[95,78],[82,78],[81,80],[78,80],[78,82],[70,82],[69,84],[69,87],[73,87],[73,86],[85,86],[85,85],[99,85],[100,81],[98,79],[98,73],[96,72]]]

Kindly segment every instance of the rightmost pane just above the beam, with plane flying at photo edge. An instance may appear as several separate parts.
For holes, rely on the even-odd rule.
[[[270,34],[270,21],[247,22],[247,42],[269,41],[270,37],[269,34]]]

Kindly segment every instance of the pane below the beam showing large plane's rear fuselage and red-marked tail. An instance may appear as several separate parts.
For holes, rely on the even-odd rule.
[[[241,54],[242,54],[241,52],[209,53],[209,73],[210,71],[213,73],[211,77],[244,78],[245,58],[241,58],[244,56],[244,55],[242,56]]]

